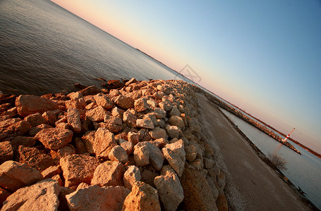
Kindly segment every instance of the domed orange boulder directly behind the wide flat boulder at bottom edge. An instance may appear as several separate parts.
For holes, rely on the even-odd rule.
[[[123,186],[123,172],[123,165],[120,162],[107,160],[96,168],[91,184]]]

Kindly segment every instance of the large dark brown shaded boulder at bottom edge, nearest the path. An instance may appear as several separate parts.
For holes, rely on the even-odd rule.
[[[202,174],[185,168],[181,177],[184,210],[217,210],[212,191]]]

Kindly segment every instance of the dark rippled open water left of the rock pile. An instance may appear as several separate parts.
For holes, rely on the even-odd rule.
[[[0,91],[74,91],[97,77],[189,81],[52,1],[0,1]]]

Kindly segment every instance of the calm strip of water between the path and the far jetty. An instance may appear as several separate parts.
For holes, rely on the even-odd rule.
[[[273,153],[280,143],[275,141],[267,134],[241,120],[226,110],[222,111],[238,126],[241,131],[248,136],[265,155]],[[296,186],[306,193],[306,197],[321,209],[321,159],[305,151],[305,149],[289,141],[295,148],[301,151],[302,155],[293,152],[286,146],[281,145],[277,151],[282,158],[288,162],[287,170],[281,172]]]

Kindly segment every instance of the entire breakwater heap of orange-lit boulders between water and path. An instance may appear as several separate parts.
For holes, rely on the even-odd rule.
[[[227,210],[193,89],[131,79],[3,101],[1,210]]]

